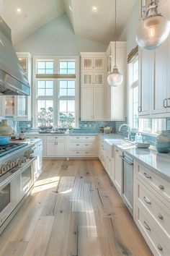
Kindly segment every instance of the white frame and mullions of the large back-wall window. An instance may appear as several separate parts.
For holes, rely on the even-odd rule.
[[[59,73],[59,61],[75,61],[76,79],[41,79],[36,78],[37,61],[53,61],[54,73]],[[59,80],[75,80],[75,128],[79,127],[79,56],[33,56],[32,59],[32,127],[37,128],[37,80],[53,80],[53,96],[39,96],[38,99],[53,99],[53,127],[57,127],[59,122]],[[69,96],[68,96],[69,97]]]

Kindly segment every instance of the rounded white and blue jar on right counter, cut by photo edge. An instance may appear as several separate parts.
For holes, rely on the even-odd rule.
[[[170,131],[162,131],[160,135],[156,137],[156,150],[158,153],[170,152]]]

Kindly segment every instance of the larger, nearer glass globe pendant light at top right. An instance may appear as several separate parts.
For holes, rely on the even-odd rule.
[[[145,17],[139,23],[136,42],[138,46],[146,50],[153,50],[164,43],[169,36],[170,22],[158,14],[156,1],[151,1],[146,9]]]

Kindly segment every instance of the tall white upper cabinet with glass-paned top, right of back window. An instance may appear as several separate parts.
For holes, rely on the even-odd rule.
[[[105,53],[81,53],[81,120],[104,120]]]

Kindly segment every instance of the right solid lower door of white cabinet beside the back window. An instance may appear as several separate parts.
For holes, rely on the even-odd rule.
[[[94,88],[94,120],[104,119],[104,88]]]

